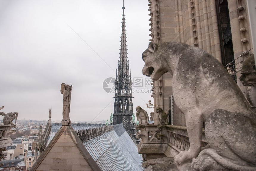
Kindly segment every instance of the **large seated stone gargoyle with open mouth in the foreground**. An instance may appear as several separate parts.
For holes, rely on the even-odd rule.
[[[256,115],[215,57],[167,42],[149,43],[142,58],[144,75],[154,80],[173,75],[174,99],[185,114],[190,141],[189,150],[175,156],[179,170],[256,170]],[[204,150],[203,123],[210,147]]]

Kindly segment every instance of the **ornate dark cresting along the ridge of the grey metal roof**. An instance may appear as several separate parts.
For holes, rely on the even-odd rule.
[[[102,126],[97,128],[77,130],[76,133],[79,139],[83,143],[87,143],[101,135],[106,134],[107,132],[114,131],[120,127],[123,127],[122,123],[118,125],[109,125],[109,126]]]

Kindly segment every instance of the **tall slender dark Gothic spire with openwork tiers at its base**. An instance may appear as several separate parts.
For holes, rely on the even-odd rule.
[[[115,78],[115,102],[114,102],[114,121],[113,124],[123,123],[124,128],[129,129],[132,126],[132,79],[127,58],[125,15],[123,9],[121,48],[118,60],[117,75]]]

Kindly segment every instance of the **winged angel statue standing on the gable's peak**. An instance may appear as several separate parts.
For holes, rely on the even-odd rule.
[[[62,111],[63,122],[62,123],[65,123],[64,125],[71,125],[71,121],[69,118],[71,91],[72,91],[72,85],[70,86],[65,83],[61,84],[60,92],[61,94],[63,94],[63,111]]]

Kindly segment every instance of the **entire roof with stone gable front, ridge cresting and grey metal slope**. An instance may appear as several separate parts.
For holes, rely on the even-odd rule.
[[[142,171],[141,161],[123,124],[77,132],[62,126],[30,171]]]

